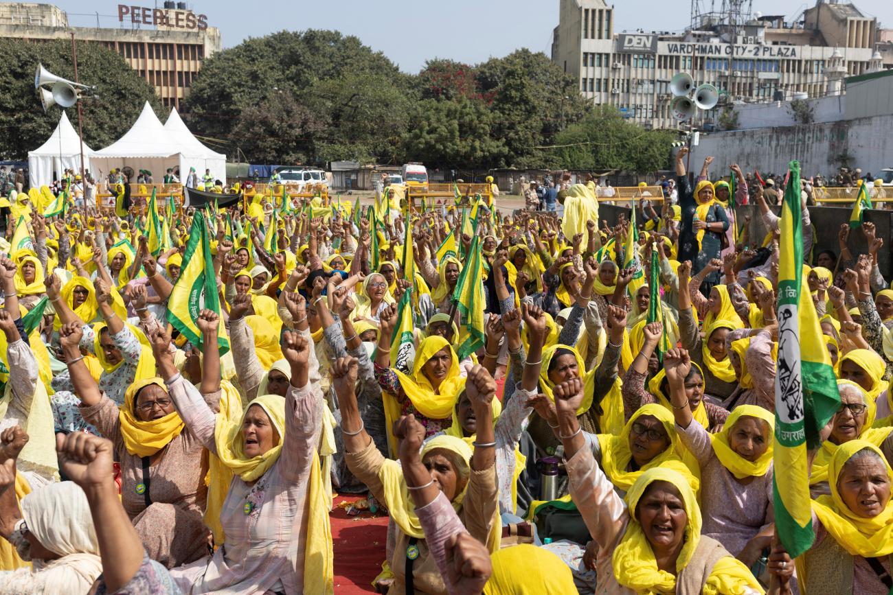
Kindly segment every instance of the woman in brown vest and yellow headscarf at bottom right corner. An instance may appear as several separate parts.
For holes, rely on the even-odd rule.
[[[893,469],[872,442],[853,440],[831,457],[828,476],[830,495],[812,501],[815,540],[796,560],[800,591],[888,592]]]

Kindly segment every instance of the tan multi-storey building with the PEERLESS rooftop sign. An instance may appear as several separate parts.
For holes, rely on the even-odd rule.
[[[53,4],[0,3],[0,37],[70,39],[73,32],[80,42],[121,54],[165,106],[179,109],[204,59],[221,50],[221,34],[185,2],[154,4],[161,8],[110,3],[114,14],[97,12],[96,27],[72,27],[68,14]]]

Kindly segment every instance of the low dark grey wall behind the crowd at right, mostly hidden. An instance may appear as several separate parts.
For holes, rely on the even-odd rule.
[[[773,211],[778,214],[779,208]],[[841,207],[810,207],[809,216],[812,222],[812,232],[815,234],[815,244],[813,255],[818,255],[822,250],[831,250],[838,256],[840,255],[838,243],[838,231],[840,225],[849,221],[850,209]],[[630,210],[625,207],[613,206],[610,204],[601,204],[598,210],[600,219],[605,219],[608,225],[615,225],[618,215],[624,213],[629,218]],[[763,219],[760,217],[759,209],[755,205],[747,205],[739,207],[736,210],[739,220],[744,220],[746,214],[750,215],[753,238],[759,238],[757,241],[762,242],[766,235],[766,228],[763,225]],[[871,221],[876,229],[877,236],[883,237],[885,240],[893,237],[893,211],[868,211],[865,214],[865,220]],[[807,233],[807,232],[805,232]],[[753,244],[753,242],[751,242]],[[893,259],[891,259],[890,242],[885,242],[883,248],[878,254],[878,267],[881,275],[889,279],[893,277]],[[859,231],[850,233],[849,237],[850,252],[857,257],[859,254],[868,253],[868,244],[865,243],[864,236]],[[814,262],[814,260],[811,260]]]

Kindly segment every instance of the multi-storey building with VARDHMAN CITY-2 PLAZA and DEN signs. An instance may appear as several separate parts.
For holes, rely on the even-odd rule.
[[[794,22],[745,14],[742,4],[723,0],[727,13],[693,14],[691,26],[680,34],[616,33],[613,5],[559,0],[552,60],[577,79],[585,97],[615,105],[647,128],[679,125],[670,89],[679,72],[688,72],[696,86],[719,89],[720,105],[696,115],[696,123],[709,126],[730,103],[839,93],[847,76],[893,66],[893,45],[884,43],[887,32],[853,4],[820,0]]]

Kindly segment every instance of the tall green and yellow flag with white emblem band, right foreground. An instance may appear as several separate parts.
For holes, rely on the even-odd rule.
[[[775,533],[791,558],[815,539],[806,450],[840,405],[837,378],[822,339],[813,298],[803,276],[800,164],[789,164],[780,219],[779,347],[775,376],[775,445],[772,460]]]

